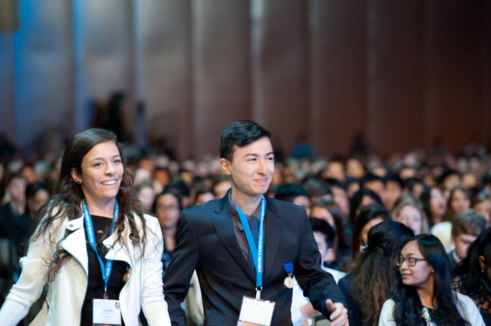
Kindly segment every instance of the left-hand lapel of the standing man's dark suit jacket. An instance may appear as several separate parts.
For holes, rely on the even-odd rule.
[[[215,227],[216,233],[220,238],[221,242],[224,243],[225,248],[230,252],[232,257],[237,261],[239,266],[244,270],[251,280],[256,281],[256,275],[249,268],[247,261],[245,261],[242,250],[237,243],[237,238],[235,237],[234,223],[232,221],[232,213],[230,212],[229,197],[224,196],[220,200],[218,209],[215,211],[216,215],[213,217],[213,225]]]

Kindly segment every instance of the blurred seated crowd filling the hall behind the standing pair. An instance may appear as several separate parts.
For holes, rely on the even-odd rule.
[[[231,182],[222,174],[218,157],[178,161],[158,152],[146,153],[142,156],[128,148],[123,156],[142,207],[161,223],[165,272],[177,243],[182,209],[223,197]],[[350,285],[344,291],[347,298],[356,282],[364,282],[363,264],[370,251],[370,229],[384,221],[395,221],[407,226],[414,235],[433,234],[441,241],[451,268],[455,267],[452,287],[470,296],[484,320],[490,322],[491,293],[482,285],[491,284],[491,276],[484,273],[491,268],[491,252],[485,251],[485,241],[475,244],[475,250],[481,251],[468,258],[474,261],[462,266],[470,254],[469,248],[490,223],[491,153],[476,144],[468,145],[459,155],[442,147],[428,153],[411,151],[386,156],[362,148],[347,158],[314,153],[308,144],[296,146],[288,158],[281,152],[275,153],[276,171],[267,195],[305,207],[325,269],[337,281],[349,276]],[[60,158],[47,155],[26,160],[16,155],[13,148],[4,150],[0,158],[1,304],[19,274],[18,258],[26,249],[24,243],[38,218],[36,212],[49,199]],[[389,238],[384,238],[386,244],[390,243]],[[487,258],[481,262],[484,275],[471,276],[479,276],[478,279],[482,276],[485,281],[482,284],[467,277],[479,269],[476,267],[479,257]],[[351,295],[370,291],[363,286],[358,290]],[[382,293],[375,298],[380,305],[369,305],[375,316],[361,305],[363,300],[354,298],[353,306],[360,305],[356,318],[374,324],[389,297],[388,292]],[[302,301],[299,307],[307,304]],[[193,309],[190,302],[187,310],[190,323],[200,324],[203,321],[199,319],[199,309],[192,313]],[[294,308],[292,316],[295,324],[307,322],[302,314],[295,320]]]

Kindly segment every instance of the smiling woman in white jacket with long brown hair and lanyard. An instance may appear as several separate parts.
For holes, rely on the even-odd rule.
[[[2,325],[16,325],[47,282],[48,299],[34,324],[138,325],[141,306],[150,325],[170,325],[162,232],[139,206],[116,135],[103,129],[75,135],[0,310]],[[109,320],[100,313],[108,305],[116,307]]]

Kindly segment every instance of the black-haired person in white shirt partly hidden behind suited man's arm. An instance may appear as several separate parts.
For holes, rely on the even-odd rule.
[[[324,220],[317,218],[309,218],[310,225],[314,231],[314,238],[317,242],[317,247],[321,254],[321,258],[324,261],[326,257],[329,256],[329,251],[333,251],[332,244],[334,242],[334,236],[336,231]],[[327,268],[321,265],[322,269],[331,273],[336,280],[336,283],[340,278],[344,277],[346,273]],[[308,319],[312,316],[320,314],[319,311],[315,310],[307,297],[303,296],[303,291],[295,280],[295,285],[293,288],[292,297],[292,322],[294,326],[307,325]]]

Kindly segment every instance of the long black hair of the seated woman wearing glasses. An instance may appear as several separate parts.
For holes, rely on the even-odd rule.
[[[450,264],[445,253],[445,249],[440,240],[433,235],[418,235],[406,241],[416,241],[419,251],[426,261],[433,267],[434,296],[436,297],[437,310],[440,312],[443,325],[464,326],[470,324],[460,316],[455,302],[457,296],[452,293],[450,288]],[[404,245],[406,245],[406,243]],[[425,320],[421,317],[422,304],[416,288],[403,284],[400,275],[397,276],[397,283],[393,300],[394,321],[397,326],[415,326],[426,325]]]

